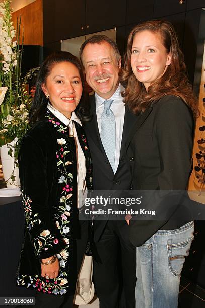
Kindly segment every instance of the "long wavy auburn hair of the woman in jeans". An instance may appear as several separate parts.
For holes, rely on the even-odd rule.
[[[159,34],[162,44],[171,56],[171,64],[167,66],[161,78],[148,87],[148,91],[143,83],[136,79],[130,63],[134,36],[144,30]],[[124,102],[134,113],[145,111],[152,102],[159,100],[164,95],[176,95],[190,106],[194,117],[198,115],[196,99],[186,73],[184,56],[180,50],[176,32],[168,21],[151,20],[142,22],[133,28],[127,41],[125,64],[120,74],[120,81],[126,88],[122,94]]]

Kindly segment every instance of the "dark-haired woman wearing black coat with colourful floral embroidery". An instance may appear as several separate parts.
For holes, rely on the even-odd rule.
[[[81,94],[82,71],[78,59],[68,52],[50,55],[40,69],[31,108],[31,121],[35,124],[25,135],[19,153],[26,223],[17,283],[34,287],[40,293],[69,295],[71,299],[81,263],[77,264],[76,260],[78,257],[81,261],[87,244],[84,235],[83,247],[77,256],[79,162],[76,149],[78,154],[82,149],[85,157],[84,189],[91,189],[92,170],[80,120],[75,115],[69,132],[62,119],[69,123],[76,107],[76,114],[82,119],[85,108]],[[74,130],[77,138],[73,136]],[[79,147],[75,139],[78,139]],[[84,232],[87,232],[85,226]],[[55,255],[55,262],[41,264]],[[49,297],[53,302],[53,296]],[[53,304],[57,307],[56,303]]]

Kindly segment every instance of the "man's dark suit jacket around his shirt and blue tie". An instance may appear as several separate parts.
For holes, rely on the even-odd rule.
[[[136,121],[136,116],[128,108],[125,108],[124,127],[120,150],[120,161],[114,174],[109,160],[103,148],[98,129],[95,95],[90,96],[92,120],[85,124],[85,132],[91,151],[93,165],[93,189],[94,190],[129,190],[131,188],[131,168],[124,159],[126,138]],[[130,157],[130,163],[133,158]],[[98,241],[107,221],[94,221],[94,240]]]

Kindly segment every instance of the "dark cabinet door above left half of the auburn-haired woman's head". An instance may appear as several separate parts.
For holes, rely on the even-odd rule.
[[[154,0],[127,0],[126,24],[152,19],[153,9]]]

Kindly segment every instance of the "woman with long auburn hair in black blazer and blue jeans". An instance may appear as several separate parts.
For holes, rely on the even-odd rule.
[[[160,221],[127,219],[138,246],[136,307],[177,308],[194,224],[179,213],[182,194],[173,191],[185,194],[198,111],[169,22],[148,21],[131,31],[122,81],[124,101],[138,117],[127,139],[127,155],[135,160],[133,189],[155,191],[147,208],[163,215]]]

